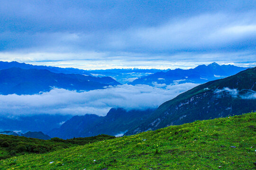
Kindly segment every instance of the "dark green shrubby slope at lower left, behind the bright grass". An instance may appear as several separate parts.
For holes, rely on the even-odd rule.
[[[112,138],[115,136],[98,135],[67,140],[55,137],[51,140],[42,140],[23,136],[0,135],[0,160],[27,153],[46,153]]]

